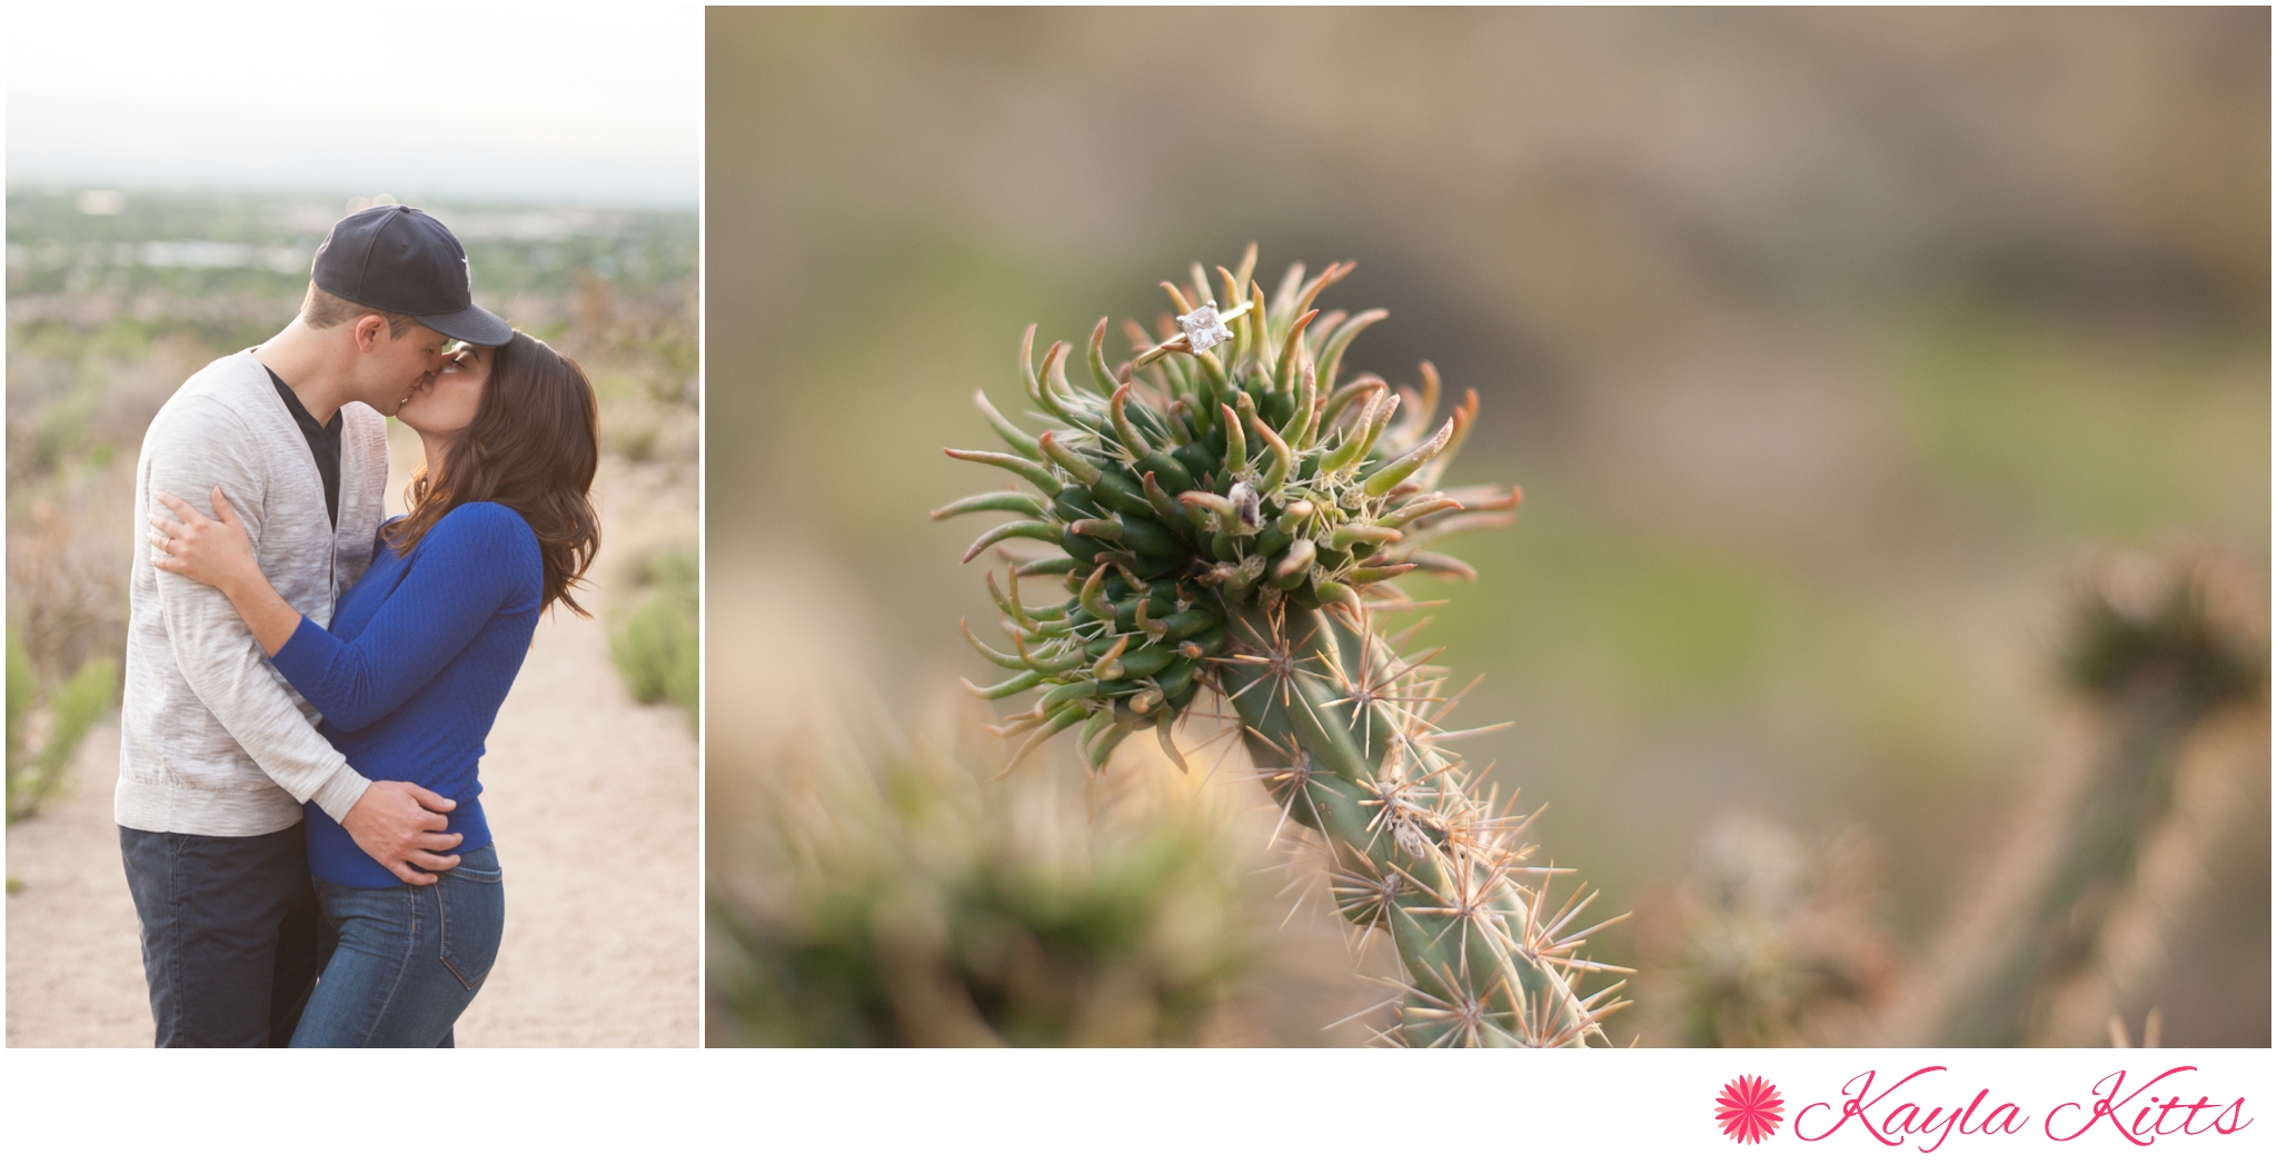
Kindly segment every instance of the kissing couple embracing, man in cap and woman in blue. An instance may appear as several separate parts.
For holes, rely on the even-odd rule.
[[[585,614],[599,410],[471,282],[433,216],[351,214],[143,437],[114,812],[159,1047],[453,1047],[496,960],[478,762],[537,617]]]

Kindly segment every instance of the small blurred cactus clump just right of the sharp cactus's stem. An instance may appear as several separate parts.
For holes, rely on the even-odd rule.
[[[1685,1047],[1840,1047],[1892,983],[1863,831],[1803,846],[1735,817],[1646,926],[1646,1024]]]

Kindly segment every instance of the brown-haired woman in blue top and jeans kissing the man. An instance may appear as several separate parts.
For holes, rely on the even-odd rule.
[[[171,494],[153,514],[153,562],[219,587],[276,669],[323,712],[323,735],[357,774],[412,780],[458,801],[460,862],[405,885],[314,803],[307,860],[326,919],[326,965],[291,1047],[451,1047],[505,922],[499,858],[476,762],[521,669],[537,614],[569,598],[601,542],[587,491],[599,412],[585,373],[515,332],[462,348],[396,419],[426,460],[410,514],[378,528],[371,569],[330,630],[262,578],[221,489],[216,519]]]

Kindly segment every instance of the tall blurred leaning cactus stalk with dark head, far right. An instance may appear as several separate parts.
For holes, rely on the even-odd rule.
[[[1894,1042],[2102,1042],[2109,992],[2081,988],[2113,944],[2156,944],[2140,931],[2172,926],[2131,917],[2134,935],[2120,935],[2113,919],[2140,915],[2129,906],[2143,899],[2175,912],[2147,856],[2184,826],[2177,778],[2193,749],[2211,726],[2245,717],[2266,783],[2263,594],[2250,569],[2197,551],[2111,557],[2086,573],[2063,646],[2063,676],[2088,719],[2083,755],[2056,769],[1983,892],[1956,912],[1892,1017]],[[2099,1015],[2081,1015],[2088,997],[2104,999],[2090,1006]]]

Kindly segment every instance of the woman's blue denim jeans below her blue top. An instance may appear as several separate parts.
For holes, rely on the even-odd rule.
[[[499,958],[505,887],[496,846],[460,856],[435,885],[364,890],[317,878],[323,976],[291,1047],[453,1047]]]

